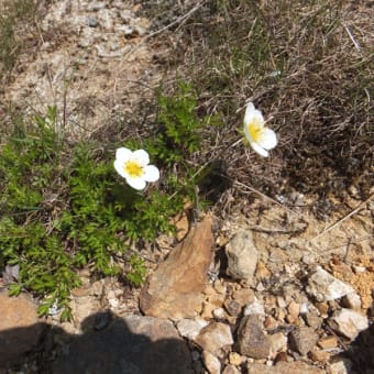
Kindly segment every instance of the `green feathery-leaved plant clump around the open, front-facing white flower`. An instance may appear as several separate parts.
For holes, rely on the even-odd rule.
[[[40,314],[52,306],[70,317],[69,293],[87,265],[102,275],[123,274],[139,286],[146,274],[130,246],[173,232],[170,218],[195,199],[196,172],[186,161],[199,146],[206,125],[196,113],[191,87],[180,82],[173,98],[158,95],[158,133],[125,146],[145,147],[162,168],[158,186],[140,193],[113,168],[113,144],[76,143],[72,148],[50,108],[45,118],[20,122],[0,154],[0,266],[20,265],[11,294],[23,288],[43,297]],[[119,144],[120,145],[120,144]],[[178,167],[178,175],[172,168]]]

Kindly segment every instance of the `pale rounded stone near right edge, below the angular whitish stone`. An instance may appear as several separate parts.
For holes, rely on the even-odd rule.
[[[369,328],[369,321],[367,317],[354,310],[342,308],[333,315],[331,326],[339,333],[354,340],[361,331]]]

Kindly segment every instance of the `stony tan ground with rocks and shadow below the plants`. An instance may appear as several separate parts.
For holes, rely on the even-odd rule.
[[[180,219],[178,244],[160,238],[143,253],[152,274],[141,290],[81,272],[73,322],[58,310],[38,319],[35,300],[2,292],[0,363],[24,373],[372,373],[373,201],[360,208],[321,222],[258,199],[246,216]]]

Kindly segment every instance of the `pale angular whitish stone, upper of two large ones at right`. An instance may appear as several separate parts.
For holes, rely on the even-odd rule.
[[[330,301],[354,293],[350,285],[333,277],[320,266],[309,276],[306,290],[317,301]]]

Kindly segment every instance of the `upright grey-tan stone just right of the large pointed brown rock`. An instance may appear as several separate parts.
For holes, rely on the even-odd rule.
[[[253,243],[251,231],[239,231],[226,246],[226,254],[228,256],[227,274],[233,279],[248,279],[253,283],[258,252]]]

